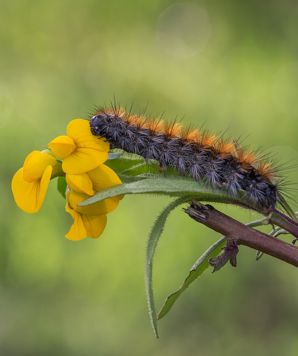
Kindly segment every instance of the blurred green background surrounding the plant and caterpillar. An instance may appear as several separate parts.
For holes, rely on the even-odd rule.
[[[156,340],[144,253],[170,199],[127,195],[98,240],[74,242],[55,180],[37,214],[20,210],[10,188],[31,151],[114,93],[135,110],[149,99],[148,114],[207,120],[251,134],[252,147],[275,145],[283,162],[297,158],[297,15],[293,0],[0,2],[1,355],[297,355],[295,267],[240,247],[236,268],[208,268],[177,300]],[[220,237],[180,208],[170,215],[155,257],[158,310]]]

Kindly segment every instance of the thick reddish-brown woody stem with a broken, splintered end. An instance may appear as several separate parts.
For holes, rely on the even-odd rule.
[[[203,205],[196,200],[185,209],[185,213],[198,223],[225,235],[227,245],[245,245],[298,267],[298,246],[252,229],[214,209],[213,206]]]

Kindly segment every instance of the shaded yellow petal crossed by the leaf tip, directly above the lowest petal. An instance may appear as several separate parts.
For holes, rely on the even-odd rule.
[[[87,206],[77,206],[77,204],[89,198],[89,195],[83,193],[77,193],[73,191],[69,195],[69,204],[76,210],[78,213],[85,215],[104,215],[111,213],[115,210],[119,204],[117,198],[107,198],[105,200],[99,201]]]

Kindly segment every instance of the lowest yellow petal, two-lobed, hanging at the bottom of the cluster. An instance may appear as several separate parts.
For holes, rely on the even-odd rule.
[[[73,225],[65,235],[69,240],[78,241],[84,239],[86,236],[92,237],[92,239],[97,239],[102,234],[103,230],[105,230],[107,223],[106,215],[83,215],[70,209],[68,204],[66,204],[65,210],[70,213],[74,219]]]

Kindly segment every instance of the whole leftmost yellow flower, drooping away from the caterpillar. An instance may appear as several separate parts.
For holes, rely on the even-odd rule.
[[[51,178],[63,174],[60,162],[49,150],[33,151],[12,178],[11,189],[17,205],[27,213],[41,208]]]

